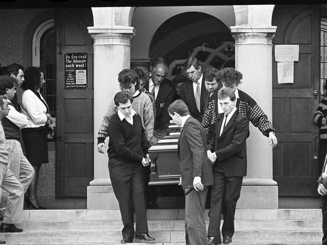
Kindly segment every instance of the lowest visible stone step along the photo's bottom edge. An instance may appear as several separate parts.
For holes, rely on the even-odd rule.
[[[151,231],[156,243],[185,242],[185,231]],[[235,231],[233,243],[305,243],[320,242],[321,231]],[[60,231],[60,232],[21,232],[2,233],[1,239],[7,244],[87,244],[87,243],[119,243],[120,231]],[[142,240],[134,238],[134,242]],[[147,242],[148,243],[148,242]]]

